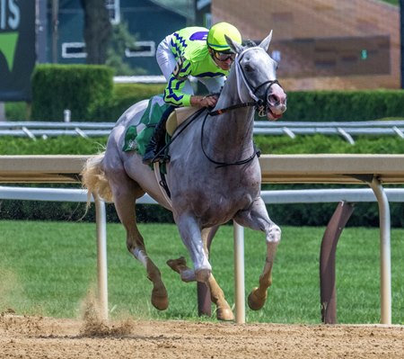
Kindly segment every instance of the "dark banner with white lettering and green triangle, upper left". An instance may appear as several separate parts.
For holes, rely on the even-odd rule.
[[[0,0],[0,101],[30,101],[35,0]]]

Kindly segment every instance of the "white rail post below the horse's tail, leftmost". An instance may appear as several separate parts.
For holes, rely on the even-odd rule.
[[[97,227],[98,300],[100,303],[101,317],[104,320],[108,320],[107,220],[105,202],[96,194],[92,196],[95,202]]]

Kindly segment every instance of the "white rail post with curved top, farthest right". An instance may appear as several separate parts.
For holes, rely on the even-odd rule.
[[[370,183],[379,204],[380,219],[380,275],[381,322],[391,324],[391,220],[390,206],[380,181],[373,177]]]

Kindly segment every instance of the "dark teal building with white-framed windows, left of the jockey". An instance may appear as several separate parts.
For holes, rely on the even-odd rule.
[[[112,24],[126,22],[135,43],[122,56],[131,67],[140,67],[149,75],[160,75],[155,61],[155,49],[170,32],[194,22],[191,0],[106,0]],[[83,7],[80,0],[58,0],[57,63],[85,63],[83,40]],[[48,6],[47,22],[52,23],[52,8]],[[52,62],[52,36],[48,25],[48,62]]]

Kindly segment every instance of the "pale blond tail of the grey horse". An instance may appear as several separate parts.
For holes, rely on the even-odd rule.
[[[112,202],[112,191],[110,190],[110,183],[105,176],[102,169],[102,160],[105,152],[99,155],[90,157],[82,171],[82,184],[87,188],[87,208],[90,205],[92,194],[98,195],[105,202]]]

